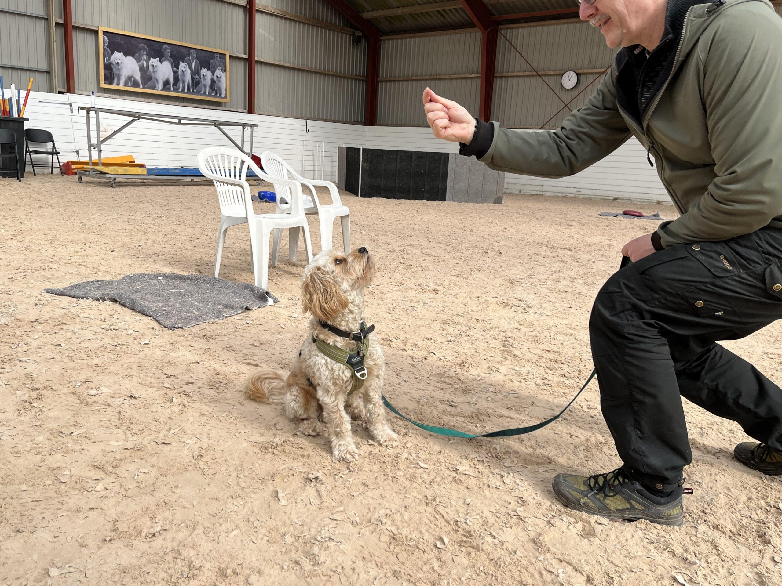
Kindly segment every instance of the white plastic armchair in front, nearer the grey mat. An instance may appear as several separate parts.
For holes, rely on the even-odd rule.
[[[271,177],[253,163],[253,159],[241,151],[232,148],[204,148],[198,154],[198,167],[205,177],[209,177],[217,189],[220,200],[220,233],[217,235],[217,256],[214,259],[214,276],[220,273],[220,260],[223,255],[225,232],[228,227],[240,223],[249,223],[249,244],[253,255],[253,273],[256,287],[266,289],[269,280],[269,236],[272,230],[290,230],[291,242],[299,243],[299,230],[304,229],[304,248],[307,260],[312,261],[310,227],[304,216],[304,198],[301,185],[281,177]],[[286,213],[256,214],[253,211],[253,199],[246,180],[247,170],[252,169],[264,181],[274,185],[278,193],[284,190],[289,194],[289,210]],[[293,235],[296,234],[294,240]],[[296,259],[296,248],[291,248],[291,260]]]

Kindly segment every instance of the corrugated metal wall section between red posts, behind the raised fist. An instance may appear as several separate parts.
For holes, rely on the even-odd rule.
[[[380,79],[480,73],[479,33],[443,34],[432,37],[388,39],[380,47]],[[378,124],[421,126],[421,92],[429,86],[470,112],[477,114],[479,77],[381,81],[378,91]]]

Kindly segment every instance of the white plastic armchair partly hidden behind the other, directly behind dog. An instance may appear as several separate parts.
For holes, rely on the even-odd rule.
[[[350,252],[350,209],[347,209],[346,205],[343,205],[342,200],[339,198],[339,191],[337,186],[331,181],[319,181],[314,179],[306,179],[299,173],[296,173],[292,167],[285,163],[285,160],[281,156],[275,155],[274,152],[266,151],[261,153],[260,160],[264,164],[264,171],[272,177],[279,177],[285,180],[296,180],[301,185],[306,185],[312,192],[312,201],[315,203],[313,207],[304,208],[304,213],[314,214],[317,213],[318,220],[321,224],[321,250],[329,250],[332,248],[334,239],[334,220],[339,218],[342,221],[343,227],[343,246],[345,247],[345,254]],[[332,203],[329,205],[322,205],[317,199],[317,192],[315,191],[315,185],[328,188],[328,192],[332,196]],[[286,188],[287,189],[287,188]],[[276,191],[277,193],[277,207],[274,210],[276,213],[286,213],[289,209],[289,191]],[[277,263],[277,254],[280,248],[280,231],[274,231],[274,245],[271,250],[271,264]],[[296,241],[293,238],[296,238]],[[291,250],[296,250],[298,245],[298,234],[291,233],[290,235],[290,247]]]

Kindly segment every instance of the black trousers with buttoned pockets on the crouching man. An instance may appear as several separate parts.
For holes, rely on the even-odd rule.
[[[623,468],[660,490],[692,459],[680,395],[782,449],[782,390],[719,344],[782,318],[782,230],[655,252],[592,309],[601,408]]]

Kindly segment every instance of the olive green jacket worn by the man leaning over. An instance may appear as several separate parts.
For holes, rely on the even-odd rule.
[[[558,130],[494,122],[480,160],[507,173],[565,177],[633,135],[681,214],[658,229],[665,248],[782,228],[782,18],[766,0],[698,4],[679,43],[640,125],[617,103],[615,63]]]

